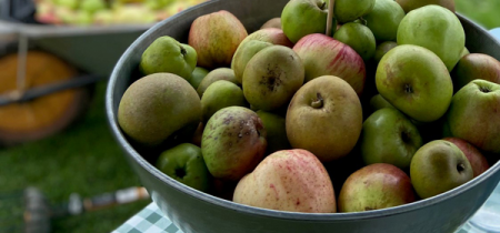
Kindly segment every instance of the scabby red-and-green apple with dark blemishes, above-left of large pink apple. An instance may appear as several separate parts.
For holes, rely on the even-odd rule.
[[[210,118],[201,138],[201,153],[210,173],[238,181],[262,161],[266,129],[259,115],[243,107],[228,107]]]

